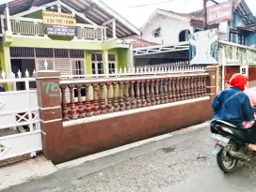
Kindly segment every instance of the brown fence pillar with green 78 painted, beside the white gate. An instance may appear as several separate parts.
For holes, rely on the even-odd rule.
[[[59,162],[62,145],[62,114],[59,90],[60,73],[56,71],[39,71],[36,74],[40,107],[40,128],[43,155]]]

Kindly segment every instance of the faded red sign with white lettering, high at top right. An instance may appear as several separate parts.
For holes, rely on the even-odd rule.
[[[232,21],[232,1],[207,7],[207,23]]]

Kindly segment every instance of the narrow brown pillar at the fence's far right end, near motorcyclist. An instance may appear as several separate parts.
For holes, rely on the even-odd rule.
[[[206,71],[209,73],[209,78],[207,80],[207,95],[211,97],[211,103],[214,101],[216,97],[216,83],[217,83],[217,74],[216,74],[217,66],[206,66]]]

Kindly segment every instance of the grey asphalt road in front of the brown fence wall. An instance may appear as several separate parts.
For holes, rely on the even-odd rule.
[[[207,126],[1,192],[255,192],[256,169],[223,174]]]

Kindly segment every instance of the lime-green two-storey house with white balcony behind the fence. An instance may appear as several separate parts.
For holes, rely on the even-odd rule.
[[[8,76],[26,69],[32,74],[45,61],[63,75],[133,65],[132,47],[121,39],[139,36],[139,30],[100,0],[9,0],[0,16],[0,61]]]

